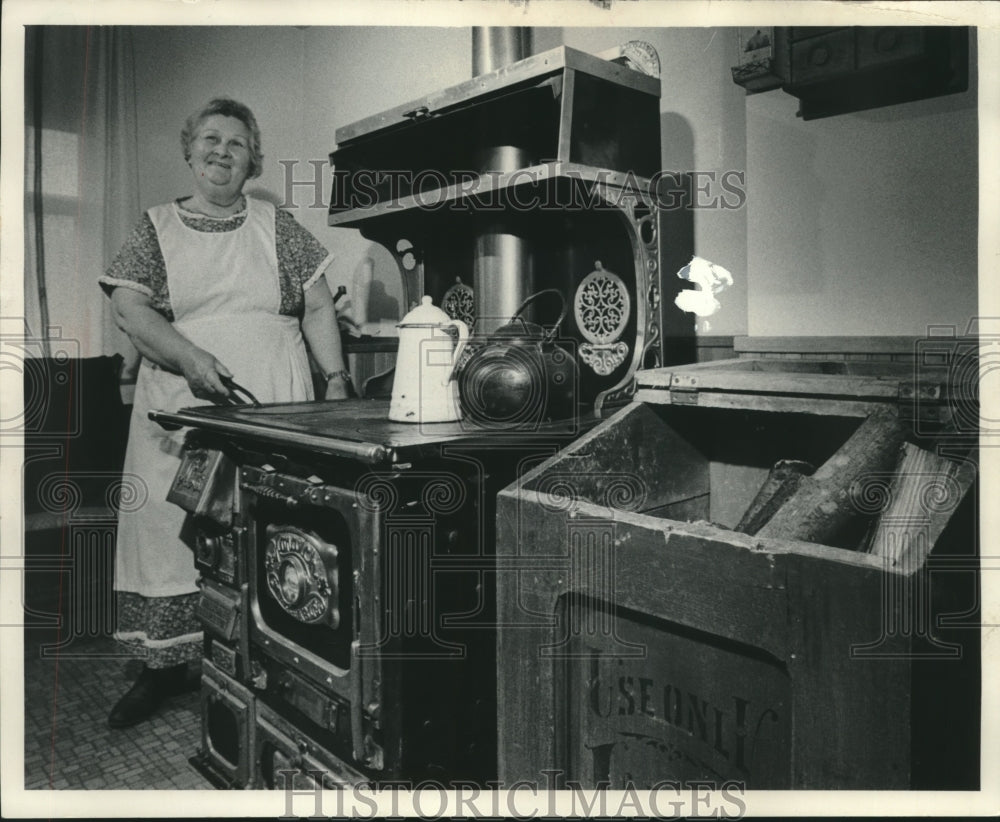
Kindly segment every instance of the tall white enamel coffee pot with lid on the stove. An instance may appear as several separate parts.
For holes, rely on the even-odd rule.
[[[424,297],[396,326],[399,353],[392,382],[389,419],[394,422],[454,422],[462,418],[455,364],[469,339],[469,327]],[[447,329],[458,330],[456,342]]]

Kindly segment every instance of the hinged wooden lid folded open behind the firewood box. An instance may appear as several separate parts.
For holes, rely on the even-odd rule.
[[[636,372],[639,402],[759,411],[945,420],[955,403],[976,402],[954,363],[927,365],[824,358],[717,360]]]

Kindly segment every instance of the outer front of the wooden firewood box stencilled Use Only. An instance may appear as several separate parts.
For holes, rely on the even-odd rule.
[[[914,585],[916,574],[886,572],[878,558],[806,543],[756,541],[709,526],[672,527],[626,512],[606,512],[603,520],[588,517],[595,509],[579,506],[570,514],[546,510],[537,498],[501,502],[502,779],[540,779],[546,769],[572,775],[583,761],[574,752],[595,745],[611,753],[588,767],[616,773],[615,757],[623,749],[600,734],[587,740],[589,747],[581,746],[579,729],[586,725],[589,698],[581,683],[593,671],[606,671],[607,660],[617,654],[626,666],[619,679],[627,683],[616,694],[601,691],[602,711],[642,705],[648,694],[640,683],[648,682],[655,683],[650,693],[666,685],[686,688],[684,699],[703,699],[699,704],[720,712],[707,712],[708,730],[701,731],[708,738],[700,740],[698,751],[703,759],[720,752],[731,758],[708,762],[707,773],[728,763],[735,770],[723,776],[742,775],[751,787],[754,779],[764,779],[767,787],[800,789],[910,786],[913,637],[893,632],[895,611],[908,605],[898,598],[888,602],[886,584]],[[633,627],[614,627],[626,623]],[[633,647],[637,637],[641,645],[657,631],[660,643]],[[704,653],[694,654],[697,647]],[[866,656],[866,648],[877,652]],[[664,661],[669,657],[664,649],[689,654],[689,670],[683,660]],[[639,660],[645,653],[647,662],[637,662],[636,652]],[[710,657],[705,665],[743,690],[734,686],[728,694],[692,696],[689,691],[706,681],[698,663],[705,655]],[[650,666],[646,673],[643,664]],[[746,711],[740,718],[742,748],[734,741],[736,711],[727,714],[723,706],[757,711],[750,717],[753,729]],[[639,713],[648,719],[629,714],[621,720],[623,727],[632,723],[623,733],[646,740],[653,753],[676,747],[676,739],[653,739],[649,728],[677,723],[657,726],[658,709],[652,701],[646,708]],[[713,716],[719,718],[714,726]],[[638,727],[639,720],[649,727]],[[694,738],[699,727],[692,727]],[[787,737],[787,763],[772,753],[754,769],[746,735],[757,732],[775,750]]]

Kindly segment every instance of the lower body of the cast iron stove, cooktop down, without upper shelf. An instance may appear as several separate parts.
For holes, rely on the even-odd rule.
[[[197,512],[199,760],[226,784],[495,774],[496,494],[571,429],[498,447],[496,432],[387,411],[157,414],[198,429],[174,499]]]

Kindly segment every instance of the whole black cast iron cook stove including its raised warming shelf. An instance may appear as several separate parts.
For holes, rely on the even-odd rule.
[[[560,291],[576,415],[407,425],[370,399],[152,413],[193,429],[171,499],[202,574],[196,761],[219,784],[496,777],[497,493],[661,362],[655,53],[609,57],[529,57],[340,129],[332,155],[330,224],[392,252],[410,305],[428,294],[481,334]],[[435,207],[407,188],[427,170],[444,178]]]

